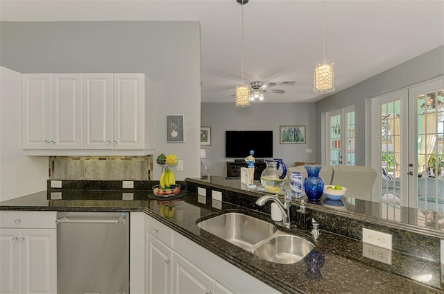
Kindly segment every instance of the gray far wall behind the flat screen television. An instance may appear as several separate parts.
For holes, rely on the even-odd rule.
[[[210,175],[226,175],[225,130],[273,130],[273,157],[281,158],[287,166],[294,162],[313,162],[316,148],[314,103],[252,103],[250,107],[235,107],[232,103],[202,103],[203,127],[211,127],[211,146],[205,149],[202,162]],[[307,144],[280,144],[280,126],[307,126]],[[313,153],[306,153],[313,149]],[[248,156],[246,154],[245,156]]]

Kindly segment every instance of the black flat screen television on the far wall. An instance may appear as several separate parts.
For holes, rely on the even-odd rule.
[[[273,157],[272,130],[226,130],[225,157],[245,158],[255,151],[255,158]]]

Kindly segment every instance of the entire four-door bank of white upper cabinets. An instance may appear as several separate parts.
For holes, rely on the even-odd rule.
[[[23,101],[28,155],[153,153],[154,85],[145,74],[24,74]]]

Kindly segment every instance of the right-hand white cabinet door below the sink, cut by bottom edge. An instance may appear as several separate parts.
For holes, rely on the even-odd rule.
[[[173,293],[214,293],[214,281],[192,263],[174,253]]]

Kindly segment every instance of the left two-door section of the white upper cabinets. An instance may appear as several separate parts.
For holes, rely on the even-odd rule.
[[[80,74],[23,76],[23,148],[82,148]]]

